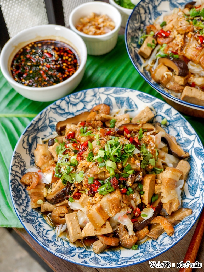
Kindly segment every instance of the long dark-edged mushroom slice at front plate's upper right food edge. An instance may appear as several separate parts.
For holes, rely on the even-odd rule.
[[[155,128],[158,131],[163,131],[165,132],[165,130],[163,128],[160,127],[159,123],[155,124]],[[176,140],[174,137],[170,136],[168,133],[166,133],[165,137],[162,137],[162,141],[167,145],[167,147],[169,148],[169,153],[171,153],[172,155],[174,155],[177,159],[185,159],[187,157],[189,157],[189,153],[188,152],[184,152],[184,150],[177,144]]]

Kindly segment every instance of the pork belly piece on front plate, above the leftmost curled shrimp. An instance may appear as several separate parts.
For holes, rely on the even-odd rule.
[[[41,168],[45,163],[54,163],[47,144],[37,144],[34,150],[35,165]]]

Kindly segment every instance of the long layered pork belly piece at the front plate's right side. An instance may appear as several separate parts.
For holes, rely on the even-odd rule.
[[[175,188],[181,175],[182,171],[173,167],[167,167],[165,171],[162,172],[161,196],[163,196],[163,198],[161,201],[163,208],[169,215],[177,211],[180,205]]]

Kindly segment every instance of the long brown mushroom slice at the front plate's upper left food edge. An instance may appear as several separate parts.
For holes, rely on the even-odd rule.
[[[80,121],[86,121],[90,112],[82,112],[74,117],[67,118],[66,120],[60,121],[56,125],[56,131],[58,135],[63,135],[65,133],[66,125],[68,124],[78,124]]]

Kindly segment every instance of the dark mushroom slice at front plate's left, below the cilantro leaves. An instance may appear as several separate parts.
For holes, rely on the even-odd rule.
[[[72,187],[72,183],[68,182],[66,186],[62,186],[58,190],[48,194],[46,199],[49,203],[55,205],[57,202],[63,200],[64,197],[73,194],[74,190],[75,186]]]

